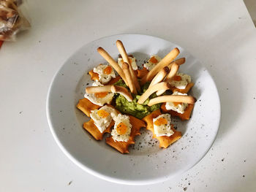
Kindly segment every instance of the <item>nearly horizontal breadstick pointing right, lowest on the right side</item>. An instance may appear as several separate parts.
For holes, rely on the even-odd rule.
[[[181,102],[186,104],[194,104],[195,98],[193,96],[158,96],[154,99],[151,99],[148,102],[148,106],[165,102]]]

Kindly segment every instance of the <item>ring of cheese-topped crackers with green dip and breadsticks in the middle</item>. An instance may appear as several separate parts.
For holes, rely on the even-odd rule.
[[[162,59],[152,55],[138,69],[136,58],[127,55],[120,40],[116,46],[117,61],[102,47],[97,49],[108,64],[89,72],[94,82],[77,104],[91,118],[83,128],[96,140],[108,133],[105,142],[120,153],[129,153],[129,145],[135,144],[143,127],[159,140],[159,147],[169,147],[181,138],[171,118],[189,120],[195,104],[195,98],[187,95],[194,85],[191,77],[178,72],[185,58],[176,59],[179,50],[174,48]]]

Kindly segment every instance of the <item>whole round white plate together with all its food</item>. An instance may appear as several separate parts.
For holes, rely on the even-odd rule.
[[[46,111],[72,162],[129,185],[159,183],[197,164],[220,119],[206,67],[173,42],[142,34],[104,37],[75,51],[53,77]]]

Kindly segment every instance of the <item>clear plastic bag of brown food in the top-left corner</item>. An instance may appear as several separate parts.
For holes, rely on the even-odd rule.
[[[20,0],[0,0],[0,41],[13,41],[18,31],[30,27],[20,12],[20,4]]]

